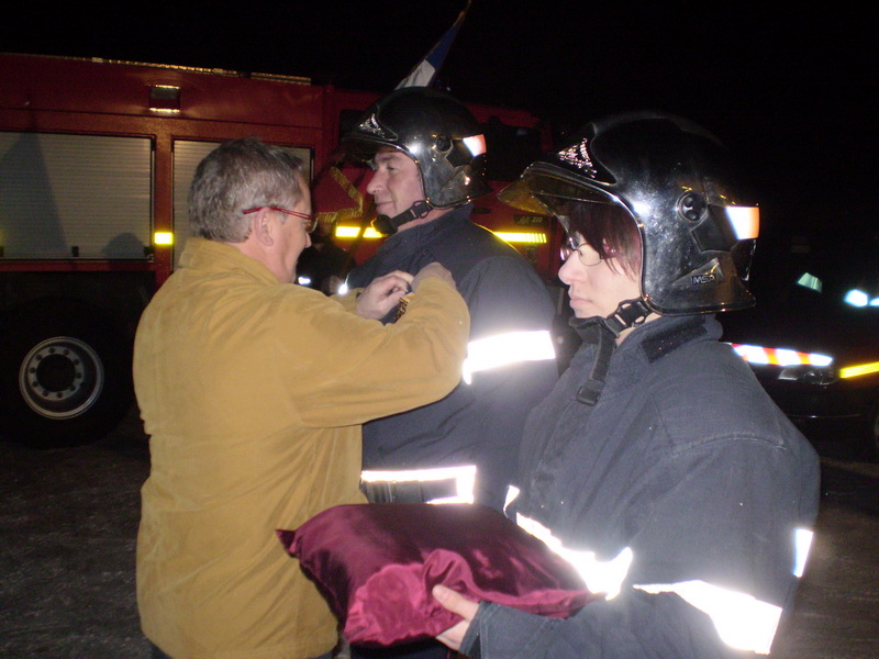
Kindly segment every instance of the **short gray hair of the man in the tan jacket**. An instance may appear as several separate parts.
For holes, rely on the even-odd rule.
[[[242,211],[265,205],[293,206],[300,190],[302,160],[256,137],[218,146],[199,164],[189,189],[192,235],[243,243],[249,220]]]

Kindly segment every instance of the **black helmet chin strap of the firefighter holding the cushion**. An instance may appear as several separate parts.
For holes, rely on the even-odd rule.
[[[616,348],[616,339],[623,330],[641,325],[648,315],[650,308],[644,298],[637,300],[625,300],[620,303],[611,315],[607,319],[592,316],[589,319],[571,319],[570,325],[580,335],[583,343],[598,345],[596,361],[589,378],[577,390],[577,402],[585,405],[594,405],[604,389],[604,380],[608,378],[608,370],[611,367],[611,356]]]

